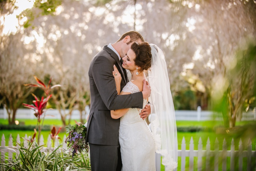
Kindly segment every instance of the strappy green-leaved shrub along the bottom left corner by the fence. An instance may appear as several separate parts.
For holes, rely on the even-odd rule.
[[[20,155],[13,160],[1,160],[3,170],[31,170],[31,171],[68,171],[68,170],[91,170],[89,157],[81,153],[72,159],[69,152],[60,146],[55,150],[41,152],[43,145],[36,142],[30,143],[28,148],[20,147]]]

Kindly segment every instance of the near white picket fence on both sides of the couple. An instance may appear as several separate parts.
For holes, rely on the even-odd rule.
[[[25,135],[24,139],[24,147],[28,147],[28,141],[30,137],[27,137],[27,134]],[[64,142],[66,139],[66,135],[63,137],[63,144],[62,147],[63,149],[67,149],[67,144]],[[16,141],[20,144],[21,143],[21,138],[18,134]],[[59,140],[56,139],[55,141],[55,147],[59,146]],[[40,137],[40,142],[39,145],[43,145],[44,140],[43,136],[41,135]],[[47,149],[51,149],[52,147],[52,139],[50,135],[47,138],[47,147],[43,147],[40,150],[41,151],[46,151]],[[235,150],[235,145],[234,145],[234,140],[232,139],[231,141],[231,147],[230,150],[227,150],[227,145],[226,145],[226,140],[223,140],[222,144],[222,150],[219,149],[219,141],[216,138],[215,144],[214,144],[214,150],[211,150],[211,144],[210,144],[210,139],[207,139],[206,142],[206,149],[202,149],[202,140],[201,137],[199,138],[198,141],[198,150],[194,150],[194,140],[191,137],[190,139],[190,144],[189,144],[189,149],[186,149],[186,142],[185,138],[183,137],[182,139],[182,144],[181,144],[181,149],[178,150],[178,157],[181,157],[181,171],[185,171],[185,163],[186,163],[186,157],[189,157],[189,171],[193,171],[194,169],[194,157],[197,157],[197,170],[201,171],[202,166],[205,166],[205,170],[214,170],[218,171],[219,170],[219,159],[222,161],[222,171],[227,170],[227,158],[230,158],[230,168],[228,170],[243,170],[243,158],[247,158],[247,170],[255,170],[255,168],[251,167],[252,159],[256,157],[256,152],[252,150],[252,142],[249,139],[248,144],[247,144],[247,150],[243,150],[243,144],[242,140],[240,139],[239,145],[238,145],[238,151]],[[13,146],[13,140],[10,135],[9,141],[8,141],[8,146],[5,146],[5,136],[4,134],[2,135],[2,140],[1,140],[1,159],[5,160],[6,153],[8,153],[8,158],[12,159],[13,155],[16,154],[16,156],[19,155],[19,150],[18,150],[18,145]],[[89,154],[90,156],[90,154]],[[205,157],[205,163],[202,162],[202,158]],[[210,165],[210,158],[214,157],[214,165]],[[235,158],[238,157],[238,169],[237,169],[237,164],[235,165]],[[156,170],[160,171],[161,169],[161,156],[159,154],[156,154]]]

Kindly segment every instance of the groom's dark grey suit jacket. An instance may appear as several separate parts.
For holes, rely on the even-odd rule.
[[[117,95],[116,82],[112,74],[114,64],[122,75],[121,90],[129,81],[117,54],[104,46],[90,63],[89,81],[91,110],[87,124],[86,142],[100,145],[118,145],[120,119],[112,119],[110,110],[142,108],[142,92]]]

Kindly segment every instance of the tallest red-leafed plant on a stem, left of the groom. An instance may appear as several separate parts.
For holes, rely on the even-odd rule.
[[[39,78],[37,78],[36,76],[34,76],[34,78],[37,81],[37,83],[39,83],[39,84],[30,83],[30,84],[25,84],[25,86],[41,88],[45,92],[46,98],[44,98],[44,97],[41,97],[41,99],[37,98],[36,95],[34,95],[32,93],[32,95],[35,98],[35,100],[33,100],[34,105],[25,104],[25,103],[23,103],[22,105],[24,107],[33,109],[35,111],[34,115],[37,117],[37,126],[38,126],[37,142],[39,144],[40,133],[41,133],[41,130],[42,130],[44,116],[45,116],[44,113],[46,111],[46,104],[49,101],[49,99],[52,97],[52,95],[49,95],[50,91],[55,87],[60,87],[61,85],[56,84],[54,86],[51,86],[51,81],[52,81],[52,78],[51,78],[48,82],[48,86],[46,87],[45,84]]]

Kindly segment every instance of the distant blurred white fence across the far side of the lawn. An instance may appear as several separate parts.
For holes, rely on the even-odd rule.
[[[89,106],[83,111],[83,118],[87,118],[89,113]],[[64,111],[61,111],[62,113]],[[65,110],[68,113],[68,109]],[[221,113],[213,113],[212,111],[201,111],[201,107],[198,106],[197,110],[175,110],[176,121],[222,121],[223,117]],[[0,109],[0,118],[7,119],[8,114],[6,109]],[[16,113],[16,119],[34,119],[34,111],[32,109],[18,109]],[[78,110],[73,110],[71,119],[79,119],[80,113]],[[47,110],[45,113],[45,119],[61,119],[60,113],[56,109]],[[69,115],[67,116],[69,119]],[[243,112],[242,121],[256,121],[256,109],[254,111]]]

